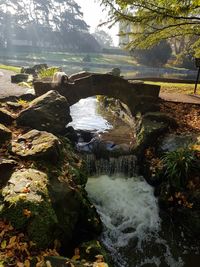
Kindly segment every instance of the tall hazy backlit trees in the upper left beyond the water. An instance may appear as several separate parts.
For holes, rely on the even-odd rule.
[[[5,0],[0,2],[0,47],[31,46],[58,50],[96,51],[81,7],[74,0]],[[26,46],[27,42],[29,43]],[[82,50],[81,50],[82,49]],[[89,50],[88,50],[89,51]]]

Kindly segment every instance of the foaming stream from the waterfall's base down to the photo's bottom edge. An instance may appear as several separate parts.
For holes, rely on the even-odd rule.
[[[157,199],[142,177],[91,177],[86,190],[101,216],[102,241],[113,255],[115,266],[183,266],[159,235]]]

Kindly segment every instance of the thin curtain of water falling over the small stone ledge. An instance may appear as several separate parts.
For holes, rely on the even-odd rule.
[[[94,154],[83,154],[82,157],[86,162],[90,176],[102,174],[111,176],[121,173],[131,177],[137,172],[137,158],[134,155],[111,157],[109,159],[97,159]]]

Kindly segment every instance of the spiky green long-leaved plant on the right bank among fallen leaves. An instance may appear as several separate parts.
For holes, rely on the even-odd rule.
[[[162,157],[162,161],[165,176],[176,188],[185,187],[189,175],[199,168],[195,152],[190,148],[167,152]]]

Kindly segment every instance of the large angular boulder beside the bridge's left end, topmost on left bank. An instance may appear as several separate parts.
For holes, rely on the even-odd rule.
[[[17,118],[18,125],[51,133],[62,133],[70,121],[67,99],[56,91],[49,91],[34,99]]]

